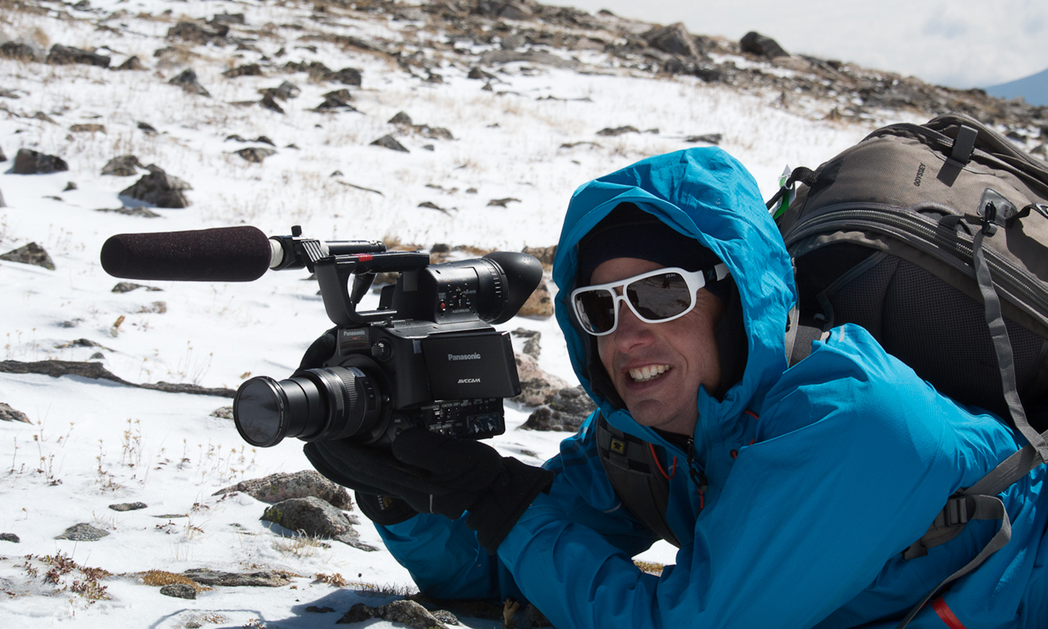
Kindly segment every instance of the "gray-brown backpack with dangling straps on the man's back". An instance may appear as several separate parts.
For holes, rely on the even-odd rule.
[[[1001,520],[903,627],[1007,543],[997,494],[1048,459],[1048,165],[948,114],[878,129],[814,171],[794,170],[777,197],[798,181],[795,199],[777,212],[800,294],[790,364],[813,337],[856,323],[940,392],[997,413],[1029,442],[949,497],[905,550],[921,557],[968,520]]]

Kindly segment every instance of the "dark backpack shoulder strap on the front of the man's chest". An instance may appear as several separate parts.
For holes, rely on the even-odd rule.
[[[603,414],[597,416],[595,436],[601,464],[626,507],[655,535],[680,548],[665,521],[670,481],[656,472],[651,444],[611,426]]]

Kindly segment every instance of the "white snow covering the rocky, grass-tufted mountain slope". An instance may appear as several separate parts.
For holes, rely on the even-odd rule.
[[[286,26],[261,29],[268,35],[255,45],[269,57],[285,46],[287,57],[281,62],[315,60],[335,70],[361,68],[364,85],[351,91],[363,113],[309,111],[321,94],[342,86],[313,83],[302,73],[224,79],[223,70],[257,62],[261,53],[195,46],[198,58],[192,67],[212,93],[206,99],[167,84],[187,66],[157,65],[152,57],[153,49],[168,45],[162,38],[179,15],[242,12],[248,28],[306,24],[391,40],[401,37],[398,29],[418,23],[343,12],[330,15],[325,26],[311,21],[307,6],[254,0],[99,0],[88,12],[69,13],[96,19],[118,8],[128,14],[106,22],[113,31],[95,30],[89,21],[56,19],[53,10],[46,16],[12,13],[3,26],[8,38],[30,34],[26,37],[38,42],[108,46],[114,66],[131,55],[150,66],[149,71],[117,72],[0,59],[0,87],[21,95],[2,101],[18,115],[0,120],[0,147],[8,159],[18,148],[32,148],[62,156],[70,168],[46,175],[0,174],[7,203],[0,209],[0,253],[34,241],[56,264],[52,272],[0,262],[0,295],[6,302],[0,314],[3,360],[87,361],[101,352],[106,369],[129,382],[235,389],[254,375],[287,377],[312,339],[331,326],[316,284],[306,281],[305,272],[270,273],[253,283],[144,281],[160,291],[114,294],[111,288],[119,280],[99,264],[102,243],[113,234],[253,224],[277,235],[299,224],[307,236],[322,239],[395,240],[423,251],[435,243],[520,251],[556,242],[577,186],[645,156],[691,146],[683,140],[689,135],[722,133],[721,146],[747,165],[770,196],[784,165],[814,167],[870,130],[778,109],[778,93],[739,93],[695,79],[616,69],[595,51],[584,59],[604,63],[603,73],[512,63],[485,68],[498,69],[499,80],[492,91],[483,91],[483,82],[466,79],[467,65],[443,61],[443,83],[425,83],[386,58],[344,51],[328,42],[306,42],[316,46],[315,53],[296,48],[301,34]],[[169,8],[173,16],[165,18],[161,12]],[[139,13],[152,17],[134,17]],[[434,41],[444,39],[433,34]],[[302,94],[282,103],[283,115],[231,104],[258,100],[258,89],[285,79],[301,87]],[[540,100],[546,96],[561,100]],[[395,132],[386,121],[401,110],[415,124],[446,127],[456,139],[398,135],[410,153],[369,146]],[[37,111],[56,123],[20,117]],[[138,122],[159,134],[147,135],[137,129]],[[103,124],[106,132],[70,133],[68,127],[78,123]],[[658,132],[595,135],[602,128],[624,125]],[[264,145],[225,140],[231,134],[266,135],[278,153],[261,165],[248,164],[232,151]],[[563,146],[581,142],[596,145]],[[286,148],[290,144],[298,148]],[[117,195],[136,177],[99,175],[111,157],[129,153],[189,181],[193,204],[151,209],[161,216],[153,219],[95,212],[130,200]],[[332,177],[335,170],[344,174]],[[65,191],[68,181],[77,189]],[[477,192],[466,192],[471,188]],[[487,205],[504,197],[520,202]],[[447,212],[419,208],[423,201]],[[162,312],[154,302],[163,302]],[[542,332],[542,368],[577,382],[552,319],[515,318],[498,327]],[[103,347],[59,347],[78,339]],[[310,469],[298,442],[253,449],[231,420],[212,416],[231,404],[228,398],[78,376],[2,373],[0,402],[31,420],[0,425],[5,506],[0,533],[21,538],[17,545],[0,542],[0,589],[28,592],[4,600],[4,626],[75,621],[82,627],[305,627],[333,622],[357,602],[388,601],[366,595],[363,586],[327,585],[314,574],[339,573],[351,584],[412,587],[408,571],[385,549],[365,552],[339,542],[296,546],[293,538],[284,537],[293,534],[259,520],[264,503],[243,494],[213,496],[243,479]],[[528,413],[507,404],[506,433],[490,442],[505,455],[539,464],[555,454],[563,435],[518,430]],[[108,508],[133,501],[149,506],[124,513]],[[180,517],[157,517],[176,514]],[[110,535],[95,542],[54,539],[79,522]],[[364,541],[381,545],[367,522],[357,529]],[[112,572],[101,582],[109,598],[90,601],[69,590],[54,591],[41,585],[41,578],[27,576],[26,555],[35,556],[32,567],[42,565],[41,557],[56,554]],[[657,544],[638,559],[673,563],[673,548]],[[216,588],[185,601],[160,595],[134,576],[195,567],[277,569],[301,577],[291,587]],[[304,611],[309,605],[329,606],[337,613],[316,616]],[[476,619],[463,622],[498,626]],[[366,625],[392,626],[385,621]]]

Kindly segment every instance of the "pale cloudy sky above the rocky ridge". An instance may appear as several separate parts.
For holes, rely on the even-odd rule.
[[[545,0],[649,22],[683,22],[699,35],[750,30],[786,50],[914,75],[951,87],[987,87],[1048,67],[1044,0]]]

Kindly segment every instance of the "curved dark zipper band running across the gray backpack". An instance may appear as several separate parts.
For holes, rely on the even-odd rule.
[[[956,216],[956,215],[954,215]],[[817,223],[817,224],[811,224]],[[964,239],[966,234],[959,231],[951,232],[951,238],[945,238],[944,231],[932,219],[904,208],[887,203],[840,203],[829,205],[800,221],[789,234],[786,246],[790,247],[803,238],[838,231],[838,230],[872,230],[902,239],[905,243],[917,246],[923,253],[936,254],[941,251],[954,252],[957,258],[937,256],[946,262],[974,277],[975,272],[968,261],[971,260],[971,244]],[[956,234],[957,238],[953,236]],[[917,237],[917,243],[913,237]],[[923,245],[923,246],[920,246]],[[1010,262],[991,248],[983,248],[986,262],[994,275],[995,284],[1002,286],[1011,295],[1019,296],[1023,301],[1034,304],[1040,311],[1048,311],[1048,294],[1038,290],[1033,282],[1024,281],[1026,277]]]

